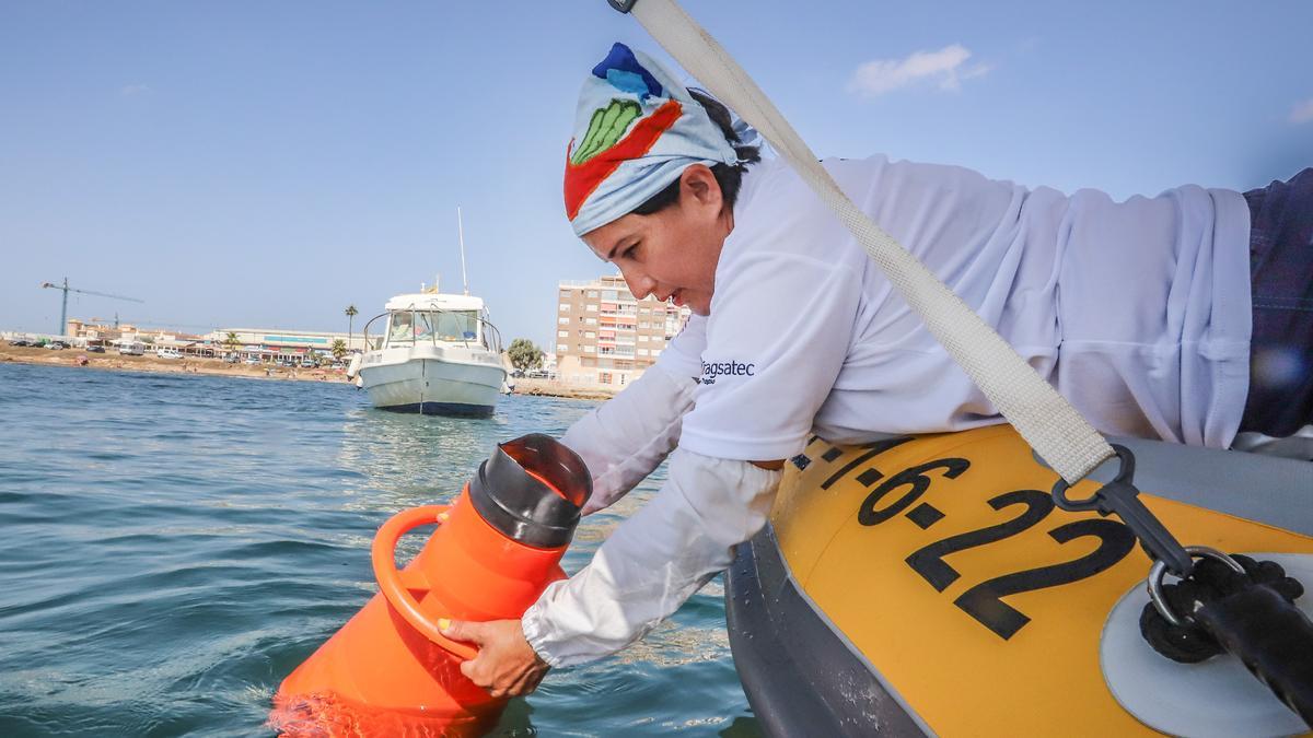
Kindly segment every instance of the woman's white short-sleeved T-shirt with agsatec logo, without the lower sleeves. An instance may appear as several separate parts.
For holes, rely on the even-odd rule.
[[[1230,444],[1249,391],[1243,196],[1187,185],[1113,202],[884,156],[825,167],[1095,428]],[[748,169],[734,221],[710,315],[674,341],[700,362],[670,369],[702,381],[680,448],[788,458],[811,433],[1002,422],[788,165]]]

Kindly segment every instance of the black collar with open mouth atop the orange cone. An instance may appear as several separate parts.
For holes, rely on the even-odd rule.
[[[470,502],[490,525],[529,546],[570,542],[592,474],[579,454],[542,433],[498,444],[470,479]]]

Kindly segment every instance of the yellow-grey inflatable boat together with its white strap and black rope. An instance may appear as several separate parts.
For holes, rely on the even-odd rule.
[[[609,3],[789,162],[1011,424],[857,448],[811,439],[792,460],[769,524],[726,575],[734,661],[767,730],[1313,726],[1313,596],[1300,583],[1313,583],[1313,464],[1109,445],[848,200],[676,0]]]

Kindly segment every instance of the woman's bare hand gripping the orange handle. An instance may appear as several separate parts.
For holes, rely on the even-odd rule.
[[[479,647],[478,658],[461,663],[461,674],[494,697],[523,697],[546,676],[548,662],[538,658],[519,620],[445,622],[442,634]]]

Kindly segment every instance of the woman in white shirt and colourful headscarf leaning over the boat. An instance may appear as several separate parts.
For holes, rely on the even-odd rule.
[[[523,621],[449,624],[481,646],[462,671],[495,696],[614,653],[674,613],[764,525],[783,460],[810,433],[861,443],[1002,422],[825,205],[788,167],[760,162],[748,135],[618,43],[584,84],[566,213],[634,297],[693,318],[563,439],[595,474],[586,513],[670,454],[660,492]],[[1225,448],[1241,428],[1292,432],[1313,415],[1300,369],[1313,355],[1278,343],[1301,331],[1295,345],[1313,344],[1313,259],[1295,251],[1309,248],[1313,218],[1285,202],[1309,202],[1313,171],[1266,201],[1188,185],[1117,204],[956,167],[825,165],[1099,431]],[[1270,286],[1264,264],[1284,281]],[[1264,306],[1284,313],[1264,318]],[[1255,351],[1293,357],[1283,386],[1251,390],[1251,327]]]

